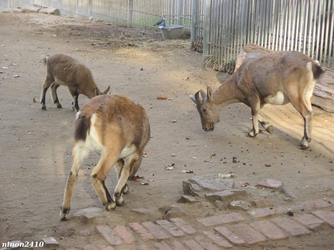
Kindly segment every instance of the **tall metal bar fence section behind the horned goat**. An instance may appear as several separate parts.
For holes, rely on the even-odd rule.
[[[272,50],[299,51],[333,67],[333,0],[206,0],[210,27],[204,58],[214,69],[233,73],[241,48],[255,43]],[[220,7],[221,6],[221,7]],[[198,14],[198,12],[197,12]],[[198,24],[197,24],[198,25]],[[202,40],[203,39],[203,40]]]

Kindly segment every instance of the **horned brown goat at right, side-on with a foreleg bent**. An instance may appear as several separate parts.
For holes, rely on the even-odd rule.
[[[190,98],[196,104],[205,131],[214,129],[219,121],[219,111],[225,105],[242,102],[251,107],[253,129],[248,132],[249,137],[259,133],[258,122],[273,134],[273,126],[260,115],[265,104],[284,105],[291,102],[304,118],[301,148],[306,149],[312,137],[313,88],[323,73],[319,63],[307,55],[295,51],[275,51],[246,59],[215,92],[212,93],[208,87],[207,94],[199,90]]]

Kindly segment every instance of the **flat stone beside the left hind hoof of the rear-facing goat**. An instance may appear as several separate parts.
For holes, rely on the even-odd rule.
[[[77,211],[73,217],[78,217],[81,223],[84,224],[95,224],[97,222],[118,222],[123,216],[102,208],[89,207]]]

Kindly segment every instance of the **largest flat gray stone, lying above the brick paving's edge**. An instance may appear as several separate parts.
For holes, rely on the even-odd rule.
[[[206,193],[219,192],[234,188],[234,181],[231,179],[219,178],[217,175],[194,176],[182,182],[185,195],[203,196]]]

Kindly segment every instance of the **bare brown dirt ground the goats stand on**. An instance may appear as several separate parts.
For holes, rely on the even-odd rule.
[[[191,176],[181,172],[185,169],[195,175],[235,172],[236,188],[245,182],[251,186],[246,187],[247,202],[266,198],[275,205],[289,206],[334,196],[334,114],[313,108],[313,139],[308,150],[298,148],[304,122],[291,104],[268,105],[263,109],[263,116],[274,126],[273,136],[267,132],[256,138],[245,136],[252,123],[251,110],[243,104],[224,107],[214,131],[204,132],[189,94],[205,90],[206,86],[218,88],[225,73],[203,70],[201,54],[189,51],[188,37],[166,41],[157,31],[35,13],[0,13],[0,23],[0,217],[9,221],[9,229],[0,236],[0,243],[40,241],[44,236],[52,236],[59,225],[94,232],[94,225],[81,224],[77,219],[59,220],[71,167],[71,96],[61,86],[58,98],[62,109],[52,103],[49,90],[46,111],[33,102],[34,97],[40,100],[46,75],[42,59],[56,52],[78,58],[91,68],[101,90],[110,85],[113,93],[141,103],[150,117],[152,138],[145,149],[147,157],[137,172],[149,185],[128,181],[130,193],[125,196],[126,204],[112,212],[122,219],[111,226],[162,219],[163,212],[158,208],[175,204],[182,195],[182,180]],[[183,80],[185,77],[190,79]],[[157,100],[160,93],[169,99]],[[80,95],[79,106],[87,100]],[[172,123],[173,120],[177,122]],[[237,163],[232,163],[233,156]],[[92,152],[83,163],[70,216],[80,209],[103,207],[90,180],[98,160]],[[174,170],[165,170],[171,163],[175,163]],[[289,201],[284,193],[254,188],[265,179],[287,184],[296,198]],[[108,174],[106,185],[109,190],[115,187],[114,170]],[[183,207],[189,213],[186,220],[205,216],[206,211],[209,215],[228,212],[227,208],[220,211],[214,205]],[[139,214],[130,210],[133,208],[148,210]],[[332,249],[331,237],[324,232],[310,239],[310,248],[304,249]],[[93,236],[65,237],[58,249],[98,245],[98,241]],[[302,240],[290,238],[289,242],[295,245]]]

